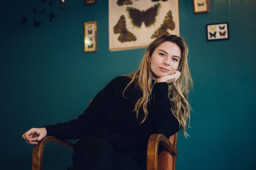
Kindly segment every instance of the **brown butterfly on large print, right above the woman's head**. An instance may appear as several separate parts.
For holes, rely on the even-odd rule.
[[[151,38],[157,38],[160,37],[161,35],[169,35],[167,32],[167,29],[174,30],[175,28],[175,23],[172,21],[172,12],[169,11],[164,18],[164,23],[161,25],[159,29],[155,31],[155,33],[152,35]]]

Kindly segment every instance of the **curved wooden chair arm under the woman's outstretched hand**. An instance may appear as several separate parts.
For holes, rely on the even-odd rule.
[[[64,145],[65,147],[68,147],[70,149],[74,149],[74,144],[67,140],[58,139],[57,137],[54,136],[46,136],[41,141],[39,141],[37,145],[34,145],[33,147],[32,170],[42,170],[42,153],[45,144],[48,143],[49,141]]]

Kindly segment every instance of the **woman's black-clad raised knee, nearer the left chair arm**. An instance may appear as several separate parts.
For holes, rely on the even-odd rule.
[[[111,170],[115,158],[116,154],[108,141],[99,137],[86,137],[76,143],[72,157],[73,166],[68,170]]]

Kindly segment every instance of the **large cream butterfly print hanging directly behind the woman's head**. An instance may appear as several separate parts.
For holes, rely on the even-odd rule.
[[[144,48],[164,34],[179,36],[178,0],[109,0],[109,50]]]

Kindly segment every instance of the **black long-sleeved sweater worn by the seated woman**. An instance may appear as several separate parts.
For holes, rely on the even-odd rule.
[[[53,126],[45,126],[48,136],[62,139],[82,139],[86,136],[101,137],[112,144],[116,153],[124,153],[138,161],[147,160],[147,143],[153,133],[162,133],[166,137],[179,131],[179,122],[171,112],[168,99],[168,84],[156,83],[153,98],[148,104],[148,118],[139,112],[139,121],[133,111],[140,91],[134,84],[125,91],[131,79],[119,76],[101,90],[77,119]]]

